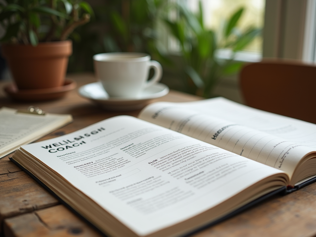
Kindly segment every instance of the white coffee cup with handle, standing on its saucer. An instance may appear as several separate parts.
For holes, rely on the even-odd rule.
[[[137,98],[144,88],[159,82],[162,76],[161,65],[145,53],[100,53],[93,60],[96,77],[110,97]],[[155,73],[147,80],[150,68]]]

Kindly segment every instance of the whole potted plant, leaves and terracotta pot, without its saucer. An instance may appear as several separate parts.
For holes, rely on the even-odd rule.
[[[80,0],[7,0],[0,3],[1,39],[19,90],[64,85],[73,30],[87,23],[93,11]]]

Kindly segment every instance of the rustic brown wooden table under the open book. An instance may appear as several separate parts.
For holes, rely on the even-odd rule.
[[[78,87],[94,81],[91,74],[70,75]],[[0,83],[0,107],[27,108],[30,103],[17,103],[5,97]],[[199,97],[171,91],[156,99],[191,101]],[[105,111],[80,97],[76,90],[61,100],[32,103],[51,113],[70,113],[74,122],[41,138],[45,140],[67,134],[103,119],[131,112]],[[1,122],[1,121],[0,121]],[[0,159],[0,233],[7,236],[101,236],[75,216],[26,173],[9,161]],[[1,235],[1,234],[0,234]],[[287,196],[276,196],[220,224],[207,228],[194,237],[206,236],[316,236],[316,184]]]

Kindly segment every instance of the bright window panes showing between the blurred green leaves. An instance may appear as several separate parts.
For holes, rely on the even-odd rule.
[[[200,0],[187,0],[188,8],[196,12]],[[222,32],[225,20],[239,9],[244,7],[244,13],[240,19],[239,27],[242,30],[250,26],[263,28],[264,25],[264,8],[265,0],[201,0],[203,5],[204,24],[206,27]],[[173,16],[174,17],[174,16]],[[220,39],[219,39],[220,40]],[[178,42],[172,38],[168,38],[168,51],[179,51]],[[244,51],[237,52],[235,60],[244,62],[258,62],[262,58],[262,36],[257,37],[249,44]],[[232,51],[229,49],[219,49],[216,52],[218,58],[230,58]]]

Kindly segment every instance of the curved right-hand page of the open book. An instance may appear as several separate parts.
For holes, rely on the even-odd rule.
[[[290,177],[301,159],[316,150],[316,125],[224,98],[158,102],[147,106],[139,118],[283,170]]]

